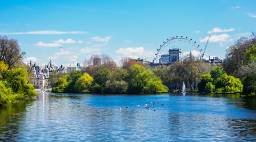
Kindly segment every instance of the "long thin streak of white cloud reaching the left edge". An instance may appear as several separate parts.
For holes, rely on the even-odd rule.
[[[64,32],[64,31],[45,30],[45,31],[0,33],[0,35],[63,35],[63,34],[88,34],[88,32],[84,32],[84,31]]]

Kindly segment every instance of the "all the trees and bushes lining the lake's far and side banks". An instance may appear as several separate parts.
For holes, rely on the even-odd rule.
[[[0,36],[0,104],[36,96],[31,84],[32,69],[24,65],[25,55],[16,39]],[[93,64],[100,58],[101,62]],[[124,57],[118,66],[107,54],[93,54],[83,62],[82,71],[53,72],[53,92],[71,93],[160,93],[180,89],[183,81],[201,93],[256,95],[256,35],[241,37],[227,49],[222,64],[214,65],[191,55],[183,62],[147,64]],[[175,87],[174,87],[175,86]]]

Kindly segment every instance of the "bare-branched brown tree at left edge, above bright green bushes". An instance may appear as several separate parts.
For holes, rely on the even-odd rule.
[[[12,69],[22,64],[22,57],[25,52],[21,52],[16,39],[8,39],[6,36],[0,36],[0,61],[8,64]]]

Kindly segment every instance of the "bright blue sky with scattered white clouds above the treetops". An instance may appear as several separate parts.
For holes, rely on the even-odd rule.
[[[163,47],[224,59],[240,37],[256,32],[255,0],[1,0],[0,36],[18,40],[23,62],[73,66],[93,54],[153,61]]]

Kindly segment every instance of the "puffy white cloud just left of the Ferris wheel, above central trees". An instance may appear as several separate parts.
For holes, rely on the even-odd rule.
[[[120,48],[118,49],[115,53],[120,53],[126,57],[131,57],[131,58],[138,58],[139,56],[142,56],[144,53],[144,48],[143,47],[128,47],[128,48]]]

